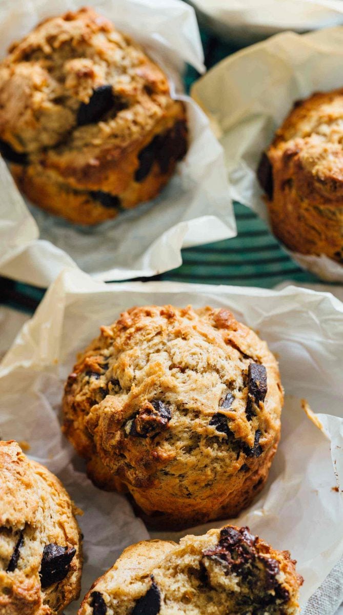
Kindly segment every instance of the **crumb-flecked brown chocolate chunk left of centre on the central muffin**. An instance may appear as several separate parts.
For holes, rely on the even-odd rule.
[[[165,403],[152,400],[146,403],[130,425],[130,435],[148,438],[164,431],[172,418],[172,411]]]

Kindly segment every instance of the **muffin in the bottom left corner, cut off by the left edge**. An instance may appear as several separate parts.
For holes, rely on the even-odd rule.
[[[0,442],[0,615],[58,615],[81,584],[81,534],[60,481]]]

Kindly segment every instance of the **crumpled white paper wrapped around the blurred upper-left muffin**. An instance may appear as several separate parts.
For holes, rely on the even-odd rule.
[[[0,57],[42,18],[83,5],[84,0],[0,3]],[[207,117],[179,86],[184,62],[204,69],[194,10],[180,0],[93,0],[92,6],[164,66],[173,95],[186,103],[191,145],[159,197],[90,227],[28,207],[0,161],[0,274],[39,287],[66,266],[98,280],[153,276],[178,267],[181,248],[236,234],[223,150]]]

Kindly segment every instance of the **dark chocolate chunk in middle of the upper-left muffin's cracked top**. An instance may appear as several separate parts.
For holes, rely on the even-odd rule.
[[[77,125],[100,122],[108,111],[118,113],[127,107],[127,103],[112,92],[112,85],[100,85],[93,90],[88,103],[81,103],[77,111]]]

